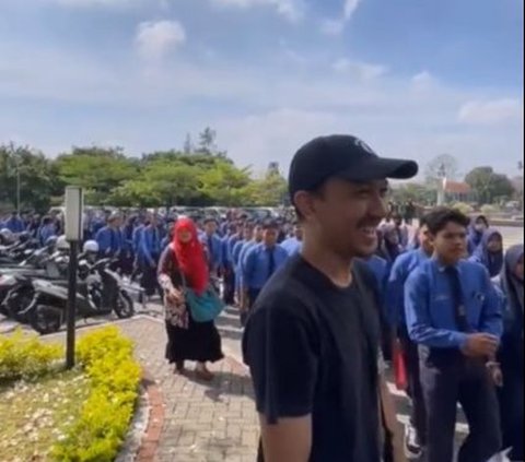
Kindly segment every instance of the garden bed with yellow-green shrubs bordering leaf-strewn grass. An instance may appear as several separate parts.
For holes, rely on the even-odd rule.
[[[21,332],[0,337],[0,460],[114,461],[137,404],[141,369],[115,327],[77,343],[78,367],[61,345]]]

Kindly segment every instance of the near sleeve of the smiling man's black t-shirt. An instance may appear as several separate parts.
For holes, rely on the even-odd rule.
[[[312,413],[318,355],[305,319],[288,309],[271,308],[259,307],[249,318],[243,351],[257,411],[269,424],[277,424],[280,417]]]

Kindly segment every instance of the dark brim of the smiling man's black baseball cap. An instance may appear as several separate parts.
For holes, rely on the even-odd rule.
[[[369,158],[351,170],[341,171],[338,177],[350,181],[373,181],[378,179],[410,179],[418,175],[419,165],[415,161],[400,158]]]

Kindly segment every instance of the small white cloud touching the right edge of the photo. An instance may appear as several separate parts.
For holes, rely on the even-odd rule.
[[[523,119],[523,103],[520,99],[471,100],[465,103],[457,114],[459,122],[476,126],[492,126]]]

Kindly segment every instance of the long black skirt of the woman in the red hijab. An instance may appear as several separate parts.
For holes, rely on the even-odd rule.
[[[221,336],[213,321],[195,322],[191,316],[188,318],[188,329],[182,329],[166,321],[166,359],[170,363],[221,360],[224,357]]]

